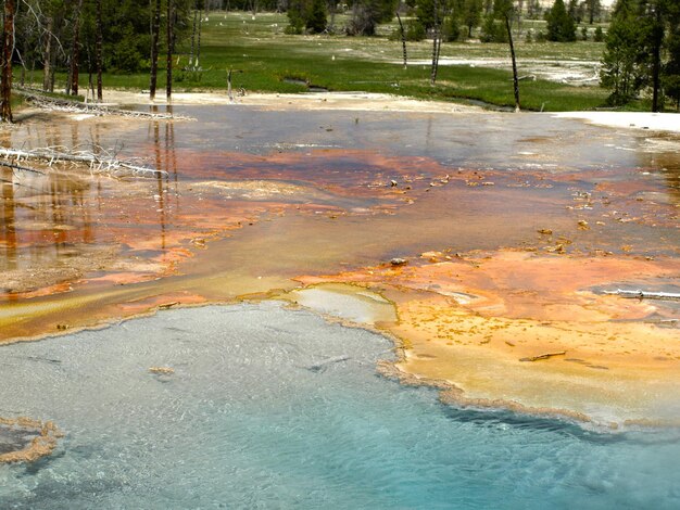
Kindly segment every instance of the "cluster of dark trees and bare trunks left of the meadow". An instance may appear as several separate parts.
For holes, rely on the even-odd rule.
[[[160,58],[160,41],[172,53],[190,33],[190,14],[203,1],[3,0],[2,119],[11,119],[12,82],[23,86],[27,75],[30,81],[41,75],[42,90],[54,92],[55,73],[66,73],[62,91],[78,94],[85,74],[101,99],[103,72],[151,69]]]

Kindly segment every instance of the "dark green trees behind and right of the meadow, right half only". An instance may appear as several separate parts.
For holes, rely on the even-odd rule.
[[[330,0],[287,0],[293,34],[319,34],[331,28],[328,13],[337,4]],[[350,14],[344,27],[348,35],[374,35],[379,23],[392,20],[401,11],[399,28],[393,37],[404,44],[406,64],[407,40],[431,38],[432,84],[436,80],[440,42],[473,37],[479,27],[482,42],[509,43],[515,67],[513,26],[521,16],[543,17],[545,33],[527,30],[526,40],[572,42],[578,38],[579,24],[602,22],[605,15],[601,0],[555,0],[545,11],[539,0],[351,0],[343,4]],[[589,39],[589,29],[581,27],[580,37]],[[617,0],[610,26],[605,35],[601,26],[592,30],[592,40],[605,41],[601,84],[612,89],[609,103],[621,105],[642,92],[650,92],[653,111],[664,107],[670,99],[680,107],[680,0]],[[516,78],[516,68],[514,69]],[[515,87],[517,89],[517,87]],[[519,106],[515,90],[516,107]]]

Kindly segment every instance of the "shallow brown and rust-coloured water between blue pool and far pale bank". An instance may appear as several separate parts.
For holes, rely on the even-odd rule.
[[[677,253],[672,137],[650,144],[542,114],[175,110],[198,122],[34,119],[3,133],[27,149],[115,148],[167,176],[0,175],[1,340],[91,324],[159,294],[225,301],[431,250],[544,250],[545,228],[571,253]],[[467,186],[483,181],[494,186]],[[292,191],[254,195],[263,182]],[[168,273],[182,277],[148,283]],[[67,292],[56,307],[42,297],[55,292]]]

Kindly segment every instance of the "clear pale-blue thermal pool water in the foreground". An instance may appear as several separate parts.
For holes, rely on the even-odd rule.
[[[66,435],[0,466],[0,508],[680,508],[678,431],[443,406],[376,374],[391,356],[277,303],[1,347],[0,416]]]

